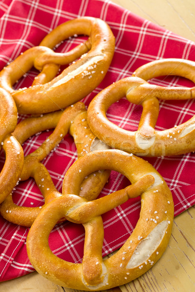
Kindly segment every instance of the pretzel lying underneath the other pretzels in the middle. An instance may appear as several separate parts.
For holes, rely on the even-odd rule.
[[[52,112],[37,118],[30,117],[23,120],[18,124],[13,135],[22,144],[30,136],[48,128],[55,128],[55,130],[38,149],[24,158],[24,165],[20,175],[20,181],[25,181],[30,177],[35,179],[45,203],[40,207],[18,206],[14,204],[12,194],[10,194],[0,205],[0,214],[15,224],[31,226],[41,209],[49,201],[61,196],[48,170],[41,161],[59,144],[67,132],[69,131],[75,139],[78,157],[86,155],[91,150],[96,138],[87,125],[86,109],[81,102],[64,111]],[[89,176],[81,186],[80,196],[96,198],[107,182],[109,174],[109,171],[102,171]]]

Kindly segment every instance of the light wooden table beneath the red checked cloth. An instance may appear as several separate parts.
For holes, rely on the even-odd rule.
[[[195,0],[113,0],[133,13],[195,41]],[[195,207],[174,219],[169,245],[146,274],[109,292],[194,292]],[[37,272],[0,284],[1,292],[79,292],[62,288]]]

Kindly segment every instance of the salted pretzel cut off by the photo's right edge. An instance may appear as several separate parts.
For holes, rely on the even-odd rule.
[[[187,77],[195,82],[195,62],[165,59],[148,63],[133,74],[110,85],[93,99],[88,108],[90,128],[104,143],[139,156],[184,154],[195,150],[195,117],[174,128],[155,129],[159,101],[195,98],[195,87],[164,88],[149,84],[148,80],[167,74]],[[143,107],[137,131],[127,131],[108,121],[109,106],[124,97]]]

